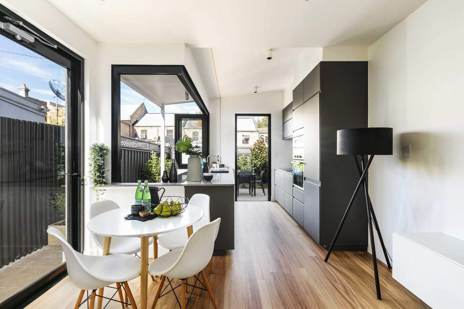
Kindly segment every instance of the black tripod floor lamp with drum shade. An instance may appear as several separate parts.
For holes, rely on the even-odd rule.
[[[377,298],[380,297],[380,284],[379,284],[379,271],[377,269],[377,257],[375,255],[375,244],[374,244],[374,231],[372,229],[372,221],[374,221],[374,227],[377,230],[379,235],[380,245],[382,246],[383,254],[387,260],[388,268],[392,268],[390,265],[390,260],[388,259],[388,252],[383,243],[382,234],[380,233],[380,227],[375,218],[374,208],[372,207],[372,202],[369,197],[369,192],[367,189],[367,170],[372,163],[375,155],[392,155],[393,154],[393,129],[392,128],[357,128],[357,129],[346,129],[337,131],[337,155],[352,155],[354,157],[354,162],[358,169],[360,179],[356,189],[354,189],[353,196],[348,203],[348,208],[343,215],[342,222],[335,233],[334,240],[330,244],[329,252],[325,257],[325,261],[329,260],[330,253],[334,249],[335,242],[337,241],[338,235],[342,230],[343,223],[345,222],[348,212],[353,205],[354,198],[361,188],[361,185],[364,188],[364,195],[366,198],[366,207],[367,207],[367,218],[369,220],[369,234],[371,239],[371,248],[372,248],[372,260],[374,262],[374,276],[375,276],[375,288],[377,290]],[[364,157],[370,155],[365,164]],[[361,157],[361,164],[358,156]]]

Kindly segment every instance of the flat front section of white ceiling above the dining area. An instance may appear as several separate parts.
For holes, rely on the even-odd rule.
[[[49,0],[99,42],[368,46],[426,0]]]

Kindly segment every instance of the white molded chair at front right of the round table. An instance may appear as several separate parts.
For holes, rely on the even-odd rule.
[[[213,222],[206,223],[199,227],[187,240],[184,248],[170,251],[158,259],[153,260],[150,265],[148,265],[148,273],[150,275],[161,276],[161,282],[158,285],[158,290],[156,291],[155,300],[153,301],[151,309],[154,309],[158,302],[166,277],[168,277],[169,285],[171,286],[173,293],[175,293],[175,288],[173,289],[169,278],[182,280],[182,283],[180,284],[180,308],[185,309],[187,305],[185,296],[186,279],[194,276],[197,281],[199,280],[197,274],[201,274],[204,282],[201,283],[200,281],[200,283],[208,291],[214,308],[218,308],[203,268],[206,267],[213,256],[214,241],[218,234],[220,222],[221,218],[218,218]],[[193,288],[200,288],[196,287],[196,281],[193,284]]]

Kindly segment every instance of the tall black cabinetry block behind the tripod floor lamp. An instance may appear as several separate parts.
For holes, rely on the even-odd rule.
[[[336,154],[336,132],[367,126],[367,62],[322,61],[294,94],[294,107],[303,100],[303,227],[328,248],[359,181],[353,157]],[[335,250],[367,250],[363,196],[354,200]]]

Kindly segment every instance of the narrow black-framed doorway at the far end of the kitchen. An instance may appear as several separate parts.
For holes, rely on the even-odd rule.
[[[249,118],[258,118],[258,117],[263,117],[263,118],[266,118],[267,119],[267,141],[266,141],[266,144],[267,144],[267,201],[271,201],[271,114],[235,114],[235,145],[234,145],[234,148],[235,148],[235,158],[234,158],[234,161],[235,161],[235,173],[237,174],[237,171],[238,171],[238,126],[237,126],[237,119],[238,118],[244,118],[244,117],[249,117]],[[257,133],[258,133],[258,138],[259,136],[261,136],[262,134],[259,134],[259,129],[258,129],[258,124],[256,124],[256,121],[255,121],[255,126],[256,126],[256,130],[257,130]],[[249,132],[252,132],[253,130],[249,130]],[[244,131],[245,132],[245,131]],[[247,135],[247,134],[243,134],[243,135]],[[250,145],[250,141],[248,141],[248,145]],[[243,154],[240,154],[240,155],[243,155]],[[256,175],[255,176],[256,179],[258,180],[259,179],[259,175]],[[238,183],[238,175],[235,175],[235,178],[236,178],[236,193],[235,193],[235,201],[238,200],[238,193],[239,192],[239,183]],[[261,186],[263,186],[264,184],[261,183]],[[259,189],[261,190],[261,189]],[[254,192],[254,188],[253,188],[253,192]],[[258,189],[256,189],[256,192],[258,194]],[[256,196],[256,195],[255,195]],[[262,200],[262,199],[261,199]],[[259,201],[257,199],[253,200],[253,198],[250,198],[249,200],[246,200],[246,201]]]

